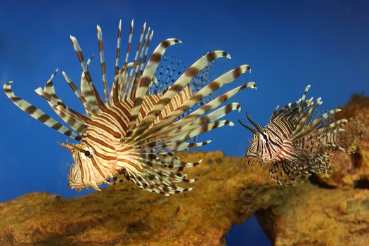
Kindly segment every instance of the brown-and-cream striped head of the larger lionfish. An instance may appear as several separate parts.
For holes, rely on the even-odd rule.
[[[59,143],[63,148],[72,152],[74,164],[70,164],[70,171],[68,174],[68,187],[76,190],[82,190],[82,188],[92,187],[96,190],[99,185],[108,183],[106,179],[109,178],[105,170],[96,168],[96,162],[99,162],[98,157],[93,155],[93,149],[82,144],[72,143]]]

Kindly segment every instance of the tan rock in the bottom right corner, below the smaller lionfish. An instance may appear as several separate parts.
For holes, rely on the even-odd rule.
[[[369,190],[288,188],[280,205],[257,212],[274,245],[368,245]]]

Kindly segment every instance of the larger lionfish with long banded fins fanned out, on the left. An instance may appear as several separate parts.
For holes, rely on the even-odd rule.
[[[75,161],[75,164],[70,165],[68,175],[68,186],[71,188],[81,190],[93,187],[100,190],[98,186],[103,183],[115,184],[117,179],[122,181],[125,178],[142,189],[162,195],[191,190],[192,188],[181,188],[176,183],[194,182],[195,179],[188,179],[181,171],[195,167],[201,160],[194,163],[182,162],[174,153],[206,145],[210,141],[196,143],[193,140],[199,134],[225,125],[233,125],[231,121],[218,119],[233,110],[240,111],[239,103],[230,103],[213,109],[242,89],[256,89],[255,83],[249,82],[238,86],[212,101],[206,97],[224,84],[233,82],[243,73],[250,72],[250,66],[241,65],[214,81],[205,83],[204,79],[199,79],[201,71],[206,70],[217,58],[231,58],[224,51],[212,51],[202,56],[185,72],[177,73],[174,80],[177,71],[169,67],[160,68],[160,61],[169,63],[165,57],[162,59],[164,52],[169,46],[179,44],[181,41],[178,39],[162,41],[146,63],[153,30],[150,30],[150,27],[146,29],[145,24],[134,60],[129,63],[134,29],[132,20],[127,54],[124,65],[119,68],[121,25],[122,20],[118,28],[117,55],[111,91],[108,89],[105,73],[103,34],[101,27],[97,26],[105,101],[96,90],[89,72],[91,58],[84,60],[82,49],[77,39],[72,36],[70,39],[83,70],[80,90],[65,72],[63,76],[75,96],[82,102],[86,114],[68,108],[56,95],[53,77],[57,71],[48,79],[44,89],[36,90],[71,129],[15,96],[11,89],[12,82],[4,85],[4,91],[15,105],[34,119],[80,141],[77,144],[59,143],[72,152]],[[170,64],[173,65],[173,62]],[[189,112],[195,105],[199,107]],[[211,110],[213,111],[209,112]]]

